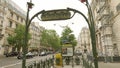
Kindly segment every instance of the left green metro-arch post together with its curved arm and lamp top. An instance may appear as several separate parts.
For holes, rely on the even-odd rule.
[[[24,38],[24,46],[22,47],[22,52],[23,52],[23,59],[22,59],[22,68],[26,68],[26,53],[28,50],[28,29],[29,26],[32,22],[32,20],[37,17],[39,14],[43,13],[44,10],[39,11],[38,13],[36,13],[35,15],[33,15],[30,19],[29,19],[29,11],[30,9],[32,9],[32,6],[34,5],[32,3],[32,1],[30,0],[30,2],[27,2],[27,16],[26,16],[26,22],[25,22],[25,38]]]

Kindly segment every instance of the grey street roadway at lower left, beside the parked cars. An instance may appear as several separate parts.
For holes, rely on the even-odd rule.
[[[36,56],[26,60],[26,64],[33,63],[34,61],[45,60],[50,58],[52,55],[48,56]],[[2,57],[0,59],[0,68],[22,68],[22,60],[18,60],[16,57]]]

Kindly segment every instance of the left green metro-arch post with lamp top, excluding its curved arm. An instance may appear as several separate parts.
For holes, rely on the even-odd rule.
[[[22,47],[23,52],[23,58],[22,58],[22,68],[26,68],[26,54],[28,51],[28,23],[29,23],[29,11],[30,8],[32,8],[33,4],[30,2],[27,2],[27,16],[26,16],[26,22],[25,22],[25,37],[24,37],[24,45]]]

